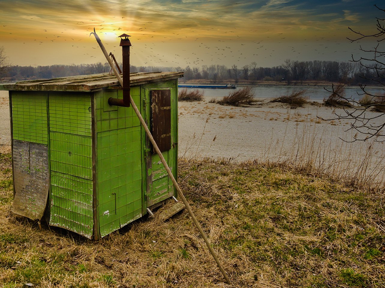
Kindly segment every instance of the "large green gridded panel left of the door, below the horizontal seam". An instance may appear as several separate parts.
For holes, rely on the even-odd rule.
[[[97,134],[97,195],[100,235],[142,216],[141,127]]]

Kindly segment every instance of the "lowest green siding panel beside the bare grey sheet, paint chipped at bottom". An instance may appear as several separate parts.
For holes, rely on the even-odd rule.
[[[92,180],[51,172],[50,225],[92,237]]]

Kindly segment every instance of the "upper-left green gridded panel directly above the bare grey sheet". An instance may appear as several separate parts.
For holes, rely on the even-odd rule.
[[[14,140],[47,145],[47,93],[12,92]]]

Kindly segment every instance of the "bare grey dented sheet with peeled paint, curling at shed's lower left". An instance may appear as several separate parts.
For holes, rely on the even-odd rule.
[[[12,211],[32,220],[41,219],[49,189],[47,146],[13,141],[15,199]]]

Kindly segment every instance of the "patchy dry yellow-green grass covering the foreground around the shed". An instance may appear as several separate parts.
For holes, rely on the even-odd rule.
[[[10,154],[0,163],[12,179]],[[178,170],[234,287],[383,287],[383,194],[284,165],[180,159]],[[186,211],[92,242],[16,217],[0,191],[0,286],[229,287]]]

